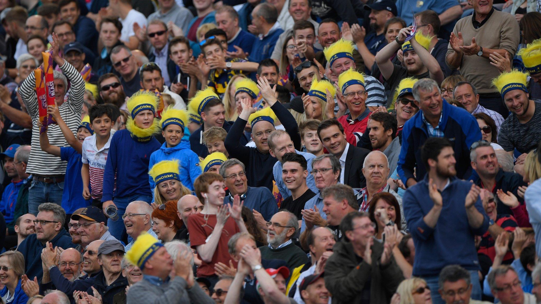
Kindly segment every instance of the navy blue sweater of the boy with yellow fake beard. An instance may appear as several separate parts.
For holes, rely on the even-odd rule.
[[[151,196],[148,183],[150,155],[160,149],[160,142],[151,136],[149,140],[132,137],[128,130],[116,131],[109,146],[109,156],[103,173],[102,202],[114,197],[128,195]],[[115,187],[116,174],[116,189]],[[123,206],[126,207],[126,206]]]

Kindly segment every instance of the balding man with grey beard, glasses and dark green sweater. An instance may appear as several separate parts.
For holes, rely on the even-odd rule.
[[[267,223],[268,246],[261,246],[261,259],[279,259],[287,263],[290,272],[306,263],[306,254],[297,247],[292,237],[299,229],[296,215],[289,211],[281,211],[273,215]]]

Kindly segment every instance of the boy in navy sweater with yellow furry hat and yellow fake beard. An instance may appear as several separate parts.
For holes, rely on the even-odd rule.
[[[150,155],[160,148],[160,142],[153,136],[160,129],[159,121],[154,118],[157,102],[154,92],[138,91],[126,103],[129,113],[126,129],[113,135],[105,163],[104,213],[107,207],[115,206],[121,217],[130,202],[152,201],[148,164]],[[118,177],[116,181],[115,176]],[[107,227],[117,240],[126,233],[123,221],[109,219]]]

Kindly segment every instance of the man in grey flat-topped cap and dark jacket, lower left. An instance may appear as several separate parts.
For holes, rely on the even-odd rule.
[[[124,257],[124,246],[118,240],[103,242],[98,248],[98,263],[103,272],[96,275],[94,285],[87,292],[94,295],[94,289],[102,296],[102,303],[113,303],[113,298],[126,298],[128,280],[122,275],[121,262]],[[93,289],[94,287],[94,289]]]

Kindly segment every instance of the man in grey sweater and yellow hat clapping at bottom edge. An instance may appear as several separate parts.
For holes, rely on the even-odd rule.
[[[160,241],[142,233],[125,257],[143,272],[143,279],[130,287],[127,303],[214,304],[194,280],[189,250],[171,257]]]

